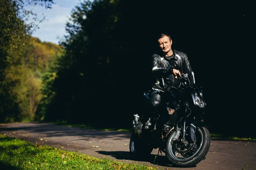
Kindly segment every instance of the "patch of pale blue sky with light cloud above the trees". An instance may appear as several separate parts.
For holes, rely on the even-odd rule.
[[[39,23],[39,29],[32,34],[38,37],[42,42],[52,42],[58,44],[58,41],[66,34],[65,26],[71,11],[75,6],[79,6],[81,0],[53,0],[55,4],[52,8],[44,6],[27,6],[27,10],[32,10],[38,15],[38,18],[45,16],[46,20]]]

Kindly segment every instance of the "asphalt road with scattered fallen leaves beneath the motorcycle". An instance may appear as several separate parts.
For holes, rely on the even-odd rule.
[[[135,160],[129,154],[131,133],[85,130],[47,123],[0,124],[0,133],[31,143],[46,144],[98,158],[144,164],[164,170],[256,170],[256,142],[211,140],[206,159],[195,167],[178,168],[168,164],[166,156],[154,149],[149,160]]]

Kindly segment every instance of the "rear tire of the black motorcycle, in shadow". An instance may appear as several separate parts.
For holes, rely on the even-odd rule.
[[[131,156],[140,159],[150,156],[150,153],[153,150],[153,147],[150,147],[148,144],[143,142],[142,139],[140,139],[140,136],[135,130],[131,134],[129,148]]]

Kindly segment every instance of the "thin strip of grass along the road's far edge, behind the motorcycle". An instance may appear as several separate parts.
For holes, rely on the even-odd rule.
[[[62,125],[62,126],[67,126],[67,127],[80,127],[84,129],[98,129],[98,130],[116,130],[116,131],[122,131],[122,132],[132,132],[133,128],[130,129],[118,129],[118,128],[111,128],[111,127],[99,127],[99,126],[93,126],[93,125],[81,125],[81,124],[69,124],[65,121],[63,122],[51,122],[51,124],[55,125]],[[210,133],[211,139],[221,139],[221,140],[241,140],[241,141],[256,141],[255,138],[250,138],[250,137],[237,137],[237,136],[225,136],[223,134],[218,134],[218,133]]]

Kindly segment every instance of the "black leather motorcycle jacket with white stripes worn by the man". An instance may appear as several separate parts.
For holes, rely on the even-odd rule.
[[[161,54],[153,54],[152,59],[152,72],[156,77],[152,88],[156,91],[164,91],[166,87],[178,87],[180,82],[175,79],[172,74],[172,68],[178,69],[180,73],[187,73],[191,85],[195,84],[195,77],[187,55],[183,52],[172,50],[171,57],[164,57]]]

